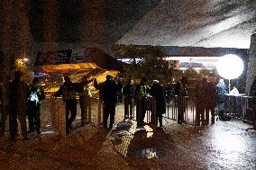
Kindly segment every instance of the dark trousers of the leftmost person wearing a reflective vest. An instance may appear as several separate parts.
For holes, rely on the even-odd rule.
[[[29,103],[28,120],[29,120],[30,131],[36,130],[36,132],[40,132],[40,128],[41,128],[40,105],[33,102]]]

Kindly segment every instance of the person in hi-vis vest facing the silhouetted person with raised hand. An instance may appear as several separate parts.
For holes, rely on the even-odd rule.
[[[76,89],[79,95],[79,104],[81,108],[81,121],[82,126],[87,122],[88,117],[88,107],[90,105],[90,95],[89,95],[89,86],[93,80],[88,80],[87,76],[83,76],[82,82],[77,83]]]

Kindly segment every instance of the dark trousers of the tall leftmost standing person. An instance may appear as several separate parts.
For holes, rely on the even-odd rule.
[[[15,139],[17,132],[18,132],[18,122],[17,118],[21,124],[21,130],[23,138],[27,137],[27,125],[26,125],[26,115],[25,113],[20,113],[17,115],[17,112],[12,111],[9,114],[9,129],[10,129],[10,137],[11,139]]]

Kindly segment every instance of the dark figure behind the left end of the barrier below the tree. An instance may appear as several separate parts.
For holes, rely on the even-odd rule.
[[[128,79],[127,84],[123,86],[123,95],[124,95],[124,117],[129,118],[129,116],[130,117],[133,116],[134,86],[132,84],[131,79]]]

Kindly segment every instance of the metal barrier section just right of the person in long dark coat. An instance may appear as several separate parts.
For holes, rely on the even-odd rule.
[[[195,125],[195,100],[188,96],[174,96],[167,101],[166,113],[163,117],[174,121],[181,119],[186,124]]]

